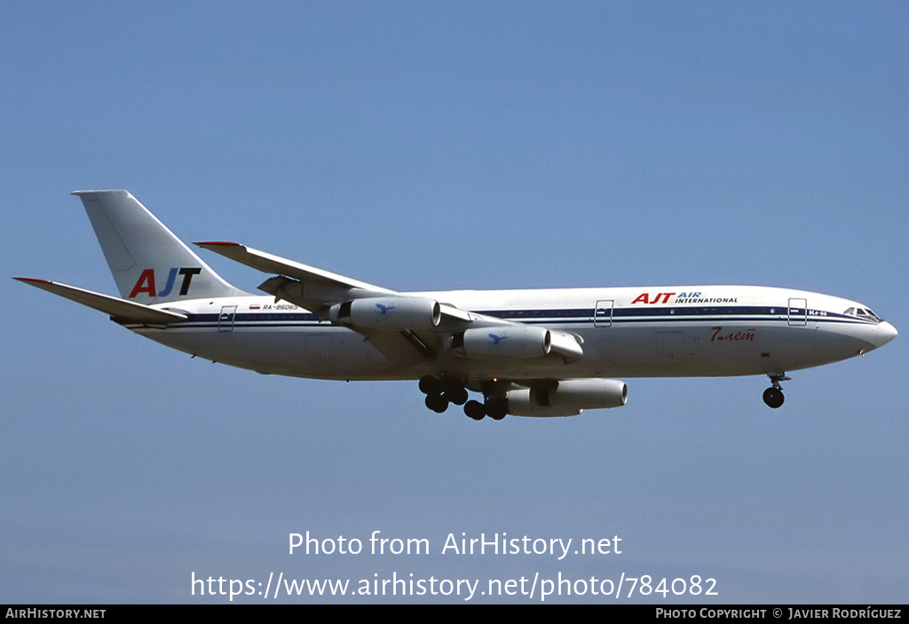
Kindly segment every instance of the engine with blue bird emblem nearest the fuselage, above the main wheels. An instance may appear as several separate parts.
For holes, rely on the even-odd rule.
[[[551,348],[549,330],[534,325],[478,327],[452,337],[452,351],[474,360],[542,358]]]

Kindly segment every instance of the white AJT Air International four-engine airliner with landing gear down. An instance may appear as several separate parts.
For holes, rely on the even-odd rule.
[[[225,282],[127,191],[75,191],[119,297],[14,278],[181,352],[264,374],[419,380],[425,405],[480,421],[620,407],[615,377],[766,375],[864,355],[894,326],[864,303],[765,286],[396,292],[240,243],[195,243],[269,275]],[[470,400],[469,392],[482,396]]]

